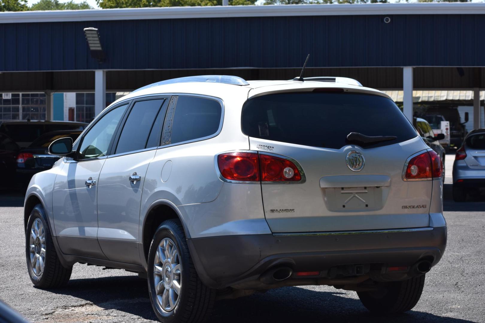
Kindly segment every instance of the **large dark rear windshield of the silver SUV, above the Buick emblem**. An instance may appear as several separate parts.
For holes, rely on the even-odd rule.
[[[359,145],[365,148],[403,142],[418,135],[386,97],[314,92],[269,94],[246,101],[242,132],[249,137],[332,149],[350,144],[347,135],[351,132],[396,137]]]

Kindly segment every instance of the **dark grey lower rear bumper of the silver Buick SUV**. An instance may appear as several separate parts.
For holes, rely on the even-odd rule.
[[[446,248],[446,227],[391,231],[328,232],[321,235],[252,234],[188,239],[197,273],[211,288],[259,279],[269,268],[320,271],[347,264],[383,268],[411,266],[422,258],[435,265]],[[383,279],[386,279],[385,277]],[[396,279],[399,280],[399,279]]]

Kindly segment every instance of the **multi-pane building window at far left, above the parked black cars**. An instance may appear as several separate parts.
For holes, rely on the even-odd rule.
[[[0,120],[46,120],[45,93],[12,93],[0,96]]]

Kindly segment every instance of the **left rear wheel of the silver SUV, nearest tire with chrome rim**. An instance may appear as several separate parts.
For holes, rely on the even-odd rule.
[[[175,253],[173,246],[177,248]],[[151,305],[161,322],[198,323],[209,318],[216,291],[205,286],[197,275],[178,219],[162,222],[155,231],[148,252],[147,281]],[[164,293],[168,294],[166,298]]]

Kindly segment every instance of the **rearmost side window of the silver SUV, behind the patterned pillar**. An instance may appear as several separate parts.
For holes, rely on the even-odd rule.
[[[221,123],[219,102],[196,96],[179,96],[172,123],[171,143],[213,135]]]

